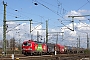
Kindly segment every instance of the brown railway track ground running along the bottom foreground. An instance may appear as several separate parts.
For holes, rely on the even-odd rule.
[[[0,57],[0,60],[90,60],[90,54],[59,54],[59,55],[42,55],[42,56],[24,56],[15,55],[12,59],[10,55]]]

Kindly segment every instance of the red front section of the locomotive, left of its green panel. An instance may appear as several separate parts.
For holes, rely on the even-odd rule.
[[[36,43],[33,40],[24,41],[22,44],[22,54],[32,55],[35,52]]]

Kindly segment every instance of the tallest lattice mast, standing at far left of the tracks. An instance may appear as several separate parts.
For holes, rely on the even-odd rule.
[[[7,4],[4,3],[4,19],[3,19],[3,53],[6,56],[6,6]]]

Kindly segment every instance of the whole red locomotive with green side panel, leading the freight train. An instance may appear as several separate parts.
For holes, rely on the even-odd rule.
[[[42,42],[33,40],[24,41],[22,44],[22,54],[24,55],[36,55],[47,53],[47,45]]]

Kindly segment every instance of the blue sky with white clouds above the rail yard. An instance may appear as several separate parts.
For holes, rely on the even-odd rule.
[[[56,43],[58,33],[58,43],[62,45],[77,46],[80,38],[80,47],[87,47],[87,35],[90,36],[90,0],[0,0],[0,40],[3,39],[3,1],[6,6],[6,20],[31,20],[32,32],[30,33],[29,21],[6,22],[7,39],[15,37],[17,41],[37,38],[45,38],[46,20],[48,21],[49,42]],[[36,3],[36,5],[35,5]],[[74,17],[74,26],[72,17]],[[74,31],[72,31],[74,28]],[[88,33],[88,34],[87,34]],[[89,37],[90,38],[90,37]]]

